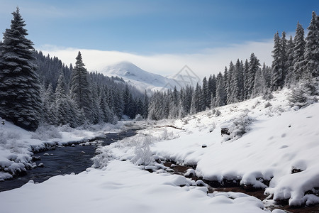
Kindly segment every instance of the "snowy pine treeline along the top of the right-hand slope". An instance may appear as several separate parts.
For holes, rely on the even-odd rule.
[[[319,18],[313,11],[308,35],[297,23],[296,34],[286,40],[286,33],[275,33],[272,67],[260,67],[258,58],[252,53],[250,60],[230,62],[224,72],[203,78],[195,88],[186,87],[167,92],[156,92],[150,98],[150,119],[175,119],[186,114],[195,114],[225,104],[266,95],[293,87],[301,80],[319,76]]]

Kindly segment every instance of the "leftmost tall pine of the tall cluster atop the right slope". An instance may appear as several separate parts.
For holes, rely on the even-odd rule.
[[[272,50],[272,91],[281,89],[284,87],[284,58],[283,46],[281,39],[279,38],[279,33],[276,32],[274,35],[274,50]]]

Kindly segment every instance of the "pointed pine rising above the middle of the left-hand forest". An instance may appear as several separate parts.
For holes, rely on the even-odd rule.
[[[89,85],[88,72],[82,62],[81,52],[78,53],[75,62],[75,67],[72,69],[71,82],[70,82],[70,95],[79,109],[83,109],[86,119],[91,121],[91,91]]]

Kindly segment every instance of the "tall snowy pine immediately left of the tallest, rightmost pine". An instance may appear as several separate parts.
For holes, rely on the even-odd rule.
[[[294,48],[293,48],[293,83],[298,82],[304,75],[304,58],[303,54],[305,53],[305,39],[303,38],[304,31],[301,24],[297,23],[296,35],[294,38]]]

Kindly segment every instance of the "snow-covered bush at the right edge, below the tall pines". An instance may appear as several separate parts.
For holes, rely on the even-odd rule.
[[[317,102],[318,82],[315,80],[305,80],[293,88],[288,100],[291,107],[300,109]]]

